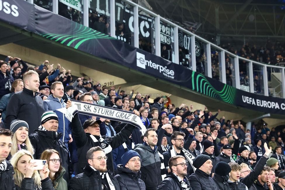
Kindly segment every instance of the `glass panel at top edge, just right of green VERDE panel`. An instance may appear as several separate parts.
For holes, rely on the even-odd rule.
[[[110,0],[88,0],[89,27],[110,35]]]

